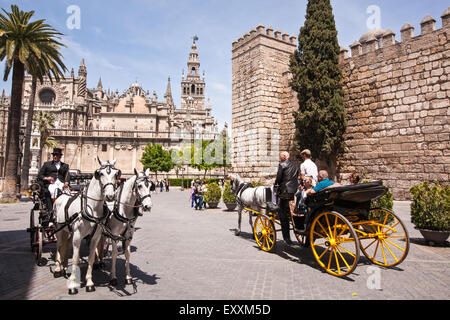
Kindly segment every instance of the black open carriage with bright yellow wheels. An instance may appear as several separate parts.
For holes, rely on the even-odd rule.
[[[371,208],[371,202],[383,196],[387,188],[381,181],[330,188],[310,195],[303,214],[291,212],[290,222],[297,240],[311,247],[319,265],[335,276],[354,271],[360,251],[372,263],[394,267],[409,251],[405,225],[393,212]],[[277,240],[279,207],[268,202],[265,214],[256,214],[253,233],[263,251],[273,251]]]

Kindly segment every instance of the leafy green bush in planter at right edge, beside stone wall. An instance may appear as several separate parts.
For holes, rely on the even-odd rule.
[[[450,231],[450,187],[428,181],[410,189],[411,222],[418,229]]]

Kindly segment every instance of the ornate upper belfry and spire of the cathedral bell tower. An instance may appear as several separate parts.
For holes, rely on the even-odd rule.
[[[205,110],[205,75],[203,74],[203,77],[200,78],[200,60],[195,44],[198,37],[194,36],[193,39],[187,63],[187,75],[185,78],[183,71],[181,77],[181,109]]]

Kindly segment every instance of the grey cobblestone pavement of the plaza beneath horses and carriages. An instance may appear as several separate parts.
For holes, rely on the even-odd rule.
[[[0,299],[449,299],[450,247],[426,246],[410,222],[409,203],[396,202],[394,210],[407,225],[409,255],[394,269],[380,268],[381,288],[369,289],[373,269],[364,256],[346,278],[321,270],[309,248],[288,247],[278,241],[274,253],[265,253],[251,238],[247,216],[236,237],[237,213],[190,208],[188,192],[173,190],[153,196],[150,214],[140,217],[132,243],[131,275],[125,285],[124,256],[118,259],[117,287],[108,285],[106,270],[94,271],[96,291],[84,284],[76,296],[67,293],[67,279],[54,279],[51,253],[44,246],[46,264],[37,267],[30,252],[31,203],[0,205]],[[279,234],[279,238],[281,234]],[[85,242],[82,254],[87,256]],[[85,261],[81,265],[86,272]],[[84,280],[84,279],[83,279]]]

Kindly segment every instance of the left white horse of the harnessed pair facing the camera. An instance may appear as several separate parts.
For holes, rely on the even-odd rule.
[[[55,278],[62,276],[63,265],[67,267],[69,238],[72,236],[73,257],[72,272],[69,278],[69,294],[78,293],[77,287],[79,287],[79,284],[76,282],[76,276],[79,274],[80,246],[83,238],[88,235],[91,235],[91,240],[89,266],[86,273],[86,291],[95,291],[92,282],[92,265],[95,260],[95,248],[102,232],[102,228],[98,225],[105,218],[104,203],[106,202],[109,210],[114,209],[116,184],[121,172],[114,168],[116,160],[103,162],[100,158],[97,159],[101,167],[95,171],[86,191],[74,197],[62,195],[54,204],[57,217],[56,229],[58,230],[65,225],[63,229],[56,233]]]

